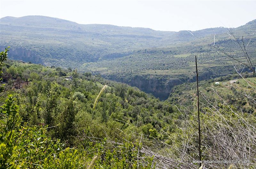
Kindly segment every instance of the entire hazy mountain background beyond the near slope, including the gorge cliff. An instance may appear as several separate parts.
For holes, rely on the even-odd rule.
[[[195,55],[199,57],[201,79],[233,70],[228,68],[231,65],[228,58],[216,60],[224,55],[209,44],[241,58],[242,51],[231,36],[233,33],[239,42],[242,36],[246,44],[250,41],[248,53],[252,57],[256,53],[256,20],[229,29],[232,33],[224,27],[167,32],[114,25],[81,25],[44,16],[4,17],[0,23],[1,50],[11,46],[10,59],[99,73],[161,99],[169,96],[173,86],[195,80]]]

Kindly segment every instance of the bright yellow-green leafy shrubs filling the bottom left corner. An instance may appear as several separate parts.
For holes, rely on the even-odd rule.
[[[0,168],[73,168],[79,166],[76,151],[63,149],[60,141],[53,141],[46,130],[34,126],[21,126],[19,108],[12,95],[1,106]]]

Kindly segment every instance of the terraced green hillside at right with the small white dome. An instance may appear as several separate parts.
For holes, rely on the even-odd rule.
[[[246,73],[242,73],[244,77]],[[247,82],[246,82],[246,81]],[[200,97],[200,102],[207,104],[207,99],[211,101],[218,101],[221,103],[228,103],[229,105],[236,106],[243,112],[253,113],[256,111],[255,102],[251,99],[248,99],[244,95],[244,91],[254,95],[254,89],[256,85],[255,74],[247,73],[247,78],[241,78],[240,75],[228,75],[215,78],[212,80],[199,81],[199,91],[204,94],[204,97]],[[219,81],[220,85],[215,85],[215,82]],[[248,83],[252,86],[248,86]],[[196,88],[196,83],[184,83],[182,85],[177,85],[172,89],[171,95],[168,98],[170,102],[180,103],[188,107],[193,107],[195,103],[195,94],[194,89]],[[223,99],[220,99],[220,97]],[[190,102],[184,102],[185,100],[190,100]]]

